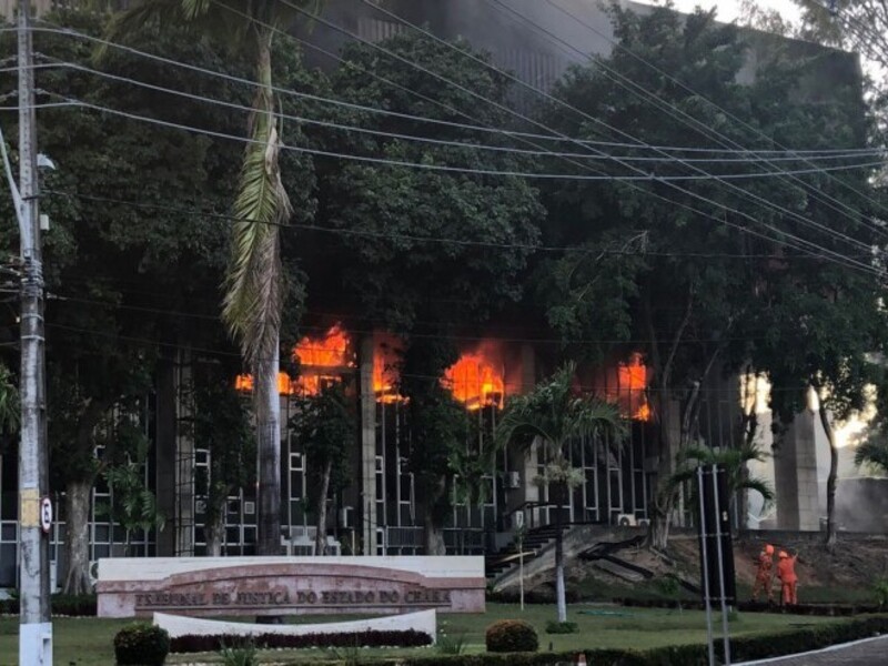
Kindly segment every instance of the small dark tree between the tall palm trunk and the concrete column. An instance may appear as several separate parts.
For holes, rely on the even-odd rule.
[[[352,401],[342,382],[324,385],[316,395],[296,400],[290,427],[305,454],[310,495],[317,515],[316,555],[326,555],[327,497],[349,485],[349,456],[356,430]],[[314,482],[314,483],[312,483]]]

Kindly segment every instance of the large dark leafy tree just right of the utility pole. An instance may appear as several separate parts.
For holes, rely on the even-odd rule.
[[[107,19],[79,11],[50,18],[95,36]],[[42,53],[92,67],[84,40],[40,33],[36,42]],[[181,28],[159,33],[148,27],[129,43],[192,64],[244,70],[242,59],[223,56]],[[249,101],[238,88],[113,50],[101,67],[194,94]],[[79,70],[41,70],[38,85],[185,125],[224,133],[239,127],[228,111],[183,104],[175,95],[124,88]],[[79,593],[89,587],[91,491],[115,455],[115,442],[104,436],[113,431],[113,412],[152,391],[158,362],[172,363],[169,350],[215,347],[224,340],[213,315],[230,228],[176,209],[225,210],[236,182],[238,148],[84,109],[48,109],[39,123],[41,150],[59,167],[43,174],[41,200],[52,221],[44,235],[51,478],[65,495],[65,589]],[[7,213],[0,244],[12,252],[18,234],[6,233],[6,224],[14,216],[7,199],[0,205]],[[97,451],[103,452],[98,460]]]

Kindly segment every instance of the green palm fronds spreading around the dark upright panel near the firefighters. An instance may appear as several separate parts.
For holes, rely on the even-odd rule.
[[[696,477],[697,467],[720,465],[725,468],[728,497],[730,502],[737,500],[740,492],[756,492],[765,501],[765,507],[774,502],[774,488],[758,476],[748,473],[747,464],[764,462],[767,454],[756,444],[744,444],[739,448],[708,448],[706,446],[688,446],[678,454],[676,463],[678,468],[667,480],[667,487],[678,493],[679,488]],[[696,485],[692,486],[692,496],[696,497]],[[696,501],[694,506],[696,506]]]

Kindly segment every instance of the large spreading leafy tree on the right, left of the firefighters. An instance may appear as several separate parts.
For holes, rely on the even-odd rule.
[[[636,16],[613,6],[612,17],[625,50],[571,69],[555,95],[616,131],[659,145],[686,145],[689,132],[694,141],[699,134],[703,145],[713,148],[725,141],[753,150],[771,142],[798,149],[865,144],[866,115],[850,59],[834,54],[836,65],[850,75],[827,81],[817,73],[821,60],[790,58],[780,44],[765,40],[755,44],[754,79],[741,83],[748,40],[761,36],[717,24],[713,13],[703,11],[680,17],[659,8]],[[620,77],[635,93],[627,94]],[[656,91],[656,100],[639,88]],[[726,112],[747,125],[729,121]],[[554,104],[544,113],[568,135],[601,139],[601,130],[579,114]],[[695,129],[678,113],[695,119],[688,121]],[[700,125],[717,129],[723,138],[714,139],[714,130]],[[563,169],[558,163],[551,168]],[[688,167],[675,162],[654,169],[658,175],[688,173]],[[748,173],[758,167],[735,169]],[[808,291],[809,276],[811,285],[825,285],[819,274],[844,283],[856,280],[847,266],[816,261],[789,242],[788,234],[816,239],[824,254],[858,252],[855,259],[866,262],[866,249],[877,234],[866,206],[846,185],[866,192],[867,176],[859,170],[841,179],[806,176],[804,184],[750,179],[739,190],[709,180],[683,183],[680,191],[662,182],[568,182],[545,191],[551,222],[544,242],[577,248],[537,269],[537,293],[549,325],[571,350],[597,360],[642,352],[649,367],[662,471],[649,506],[649,546],[667,545],[680,497],[668,478],[676,455],[699,443],[707,383],[749,364],[754,343],[763,336],[774,337],[775,350],[793,339],[793,320],[775,333],[763,317],[763,304]],[[813,230],[815,224],[819,231]],[[784,273],[793,278],[784,279]],[[588,344],[588,339],[626,342]],[[796,350],[803,353],[804,347],[794,345]],[[767,372],[768,364],[755,356],[753,367]]]

